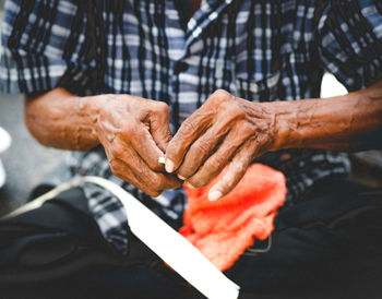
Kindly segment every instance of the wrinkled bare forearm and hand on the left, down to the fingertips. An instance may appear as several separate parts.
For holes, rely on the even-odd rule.
[[[89,151],[100,143],[112,174],[148,195],[181,184],[158,163],[171,139],[165,103],[129,95],[77,97],[57,87],[26,96],[25,123],[46,146]]]

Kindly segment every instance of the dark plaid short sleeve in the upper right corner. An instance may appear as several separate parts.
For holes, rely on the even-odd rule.
[[[319,22],[319,55],[349,92],[382,79],[382,2],[330,1]]]

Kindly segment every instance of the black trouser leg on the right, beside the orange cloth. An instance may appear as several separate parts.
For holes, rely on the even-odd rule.
[[[272,235],[268,252],[244,254],[227,271],[241,287],[312,290],[359,282],[358,271],[382,250],[382,190],[347,179],[322,181],[278,215]]]

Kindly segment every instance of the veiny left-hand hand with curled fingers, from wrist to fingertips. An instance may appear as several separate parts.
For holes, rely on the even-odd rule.
[[[165,103],[129,95],[100,95],[93,103],[97,136],[116,177],[151,196],[181,186],[158,163],[171,139]]]

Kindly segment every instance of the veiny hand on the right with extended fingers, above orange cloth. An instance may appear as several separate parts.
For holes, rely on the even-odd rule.
[[[166,170],[201,188],[229,164],[229,170],[210,191],[208,199],[217,200],[234,189],[255,157],[273,151],[274,122],[266,104],[216,91],[184,120],[168,144]]]

